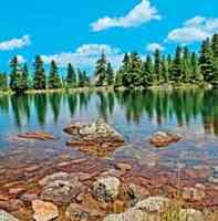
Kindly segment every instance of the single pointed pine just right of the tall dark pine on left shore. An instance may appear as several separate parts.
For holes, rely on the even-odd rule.
[[[52,60],[50,75],[49,75],[49,88],[56,90],[60,87],[61,87],[61,80],[59,76],[59,67],[58,67],[55,61]]]

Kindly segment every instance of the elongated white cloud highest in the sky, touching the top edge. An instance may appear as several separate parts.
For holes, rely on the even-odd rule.
[[[142,0],[134,9],[132,9],[124,17],[116,18],[101,18],[96,22],[92,23],[93,31],[102,31],[114,27],[138,27],[150,20],[159,20],[160,15],[155,7],[150,6],[149,0]]]

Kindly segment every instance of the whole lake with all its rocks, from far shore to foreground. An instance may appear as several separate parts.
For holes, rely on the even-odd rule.
[[[211,220],[217,98],[217,91],[0,97],[0,220],[165,221],[174,201],[184,203],[181,221]]]

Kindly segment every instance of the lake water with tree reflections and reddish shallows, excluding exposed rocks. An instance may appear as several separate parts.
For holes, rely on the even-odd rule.
[[[71,136],[63,131],[64,127],[98,118],[104,118],[124,136],[123,147],[100,157],[66,146]],[[18,137],[20,133],[37,130],[58,139]],[[165,148],[156,148],[149,138],[157,130],[183,138]],[[128,169],[117,169],[121,162]],[[71,175],[82,179],[84,187],[92,188],[106,172],[120,178],[122,191],[129,190],[134,183],[134,191],[143,196],[175,198],[181,192],[190,206],[217,208],[217,90],[0,96],[0,208],[23,221],[32,220],[31,201],[42,197],[44,188],[40,182],[50,175]],[[58,186],[49,197],[64,199],[59,196],[62,188],[65,186]],[[96,200],[89,196],[89,207],[96,206]]]

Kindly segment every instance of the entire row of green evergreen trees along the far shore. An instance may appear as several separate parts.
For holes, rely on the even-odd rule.
[[[51,61],[46,73],[43,60],[35,57],[30,74],[27,64],[20,64],[14,56],[10,62],[10,73],[0,73],[0,88],[23,93],[27,90],[56,90],[85,86],[147,87],[165,84],[179,85],[210,83],[218,84],[218,34],[203,41],[199,53],[187,46],[177,46],[174,55],[164,55],[157,49],[154,55],[142,59],[137,52],[126,53],[117,71],[107,62],[103,52],[96,61],[94,80],[86,71],[69,63],[65,77],[60,74],[55,61]]]

